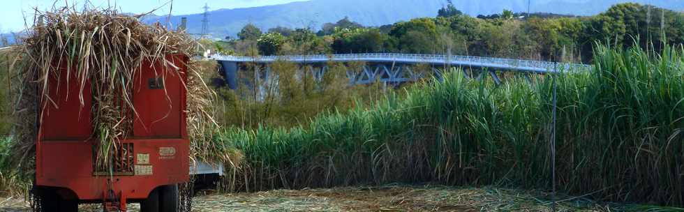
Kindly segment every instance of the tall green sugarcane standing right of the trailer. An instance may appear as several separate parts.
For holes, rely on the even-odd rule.
[[[649,56],[650,55],[650,56]],[[229,190],[389,182],[548,189],[553,78],[560,190],[596,199],[684,205],[684,50],[597,47],[595,70],[425,82],[370,109],[306,127],[231,128],[243,155]]]

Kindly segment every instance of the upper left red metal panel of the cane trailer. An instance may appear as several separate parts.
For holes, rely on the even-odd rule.
[[[43,138],[49,140],[88,139],[92,132],[90,82],[77,82],[76,70],[66,65],[57,69],[47,84],[50,100],[43,100]],[[69,73],[69,74],[67,74]],[[69,81],[67,82],[67,79]],[[80,95],[82,93],[82,95]],[[81,105],[80,98],[83,98]]]

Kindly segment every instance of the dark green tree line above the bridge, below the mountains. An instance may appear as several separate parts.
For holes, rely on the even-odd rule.
[[[264,32],[247,24],[237,36],[207,44],[224,53],[244,55],[395,52],[589,62],[597,42],[655,50],[663,43],[684,43],[684,15],[620,3],[590,17],[510,10],[470,17],[448,4],[437,17],[380,27],[364,27],[345,17],[324,24],[319,31],[275,27]]]

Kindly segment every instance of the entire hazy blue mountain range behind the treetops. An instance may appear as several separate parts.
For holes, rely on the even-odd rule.
[[[528,0],[453,0],[454,5],[468,15],[501,13],[504,9],[526,12]],[[570,15],[595,15],[615,3],[625,0],[532,0],[534,12]],[[636,0],[672,10],[684,10],[684,0]],[[266,31],[282,26],[320,29],[326,22],[336,22],[347,16],[365,26],[392,24],[415,17],[434,17],[446,0],[310,0],[275,6],[214,10],[209,13],[209,32],[218,38],[233,36],[247,23]],[[211,6],[211,5],[209,5]],[[188,31],[200,33],[202,14],[179,15],[170,18],[173,25],[180,17],[188,17]],[[167,17],[147,17],[146,22],[166,22]]]

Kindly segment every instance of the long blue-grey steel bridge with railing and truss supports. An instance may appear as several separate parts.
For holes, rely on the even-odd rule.
[[[230,89],[237,88],[237,71],[245,63],[264,66],[258,72],[261,79],[269,79],[270,63],[275,61],[290,61],[305,67],[304,73],[312,75],[314,79],[322,79],[327,72],[326,63],[334,62],[364,62],[360,70],[347,70],[350,84],[370,84],[376,81],[388,84],[413,82],[421,77],[410,66],[429,64],[436,77],[441,77],[445,67],[461,67],[482,69],[472,78],[481,79],[484,73],[489,73],[494,82],[501,83],[496,71],[518,72],[526,74],[552,74],[590,70],[592,66],[577,63],[554,63],[548,61],[533,61],[523,59],[503,59],[481,56],[447,56],[438,54],[314,54],[314,55],[282,55],[282,56],[232,56],[214,54],[207,59],[221,63],[225,79]],[[465,72],[466,70],[463,69]],[[466,73],[466,77],[468,74]]]

